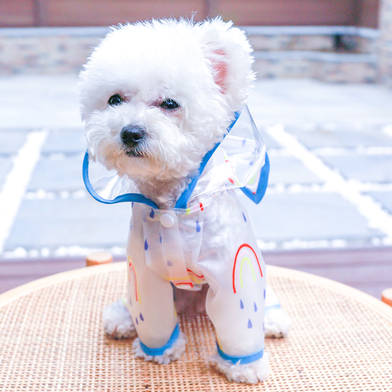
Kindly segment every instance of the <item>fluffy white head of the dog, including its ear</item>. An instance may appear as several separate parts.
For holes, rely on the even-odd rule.
[[[244,105],[250,53],[219,18],[113,28],[80,73],[90,156],[134,179],[187,176]]]

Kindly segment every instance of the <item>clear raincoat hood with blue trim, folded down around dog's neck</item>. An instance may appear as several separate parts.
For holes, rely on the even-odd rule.
[[[206,153],[175,209],[186,209],[195,199],[207,200],[222,190],[238,188],[258,203],[266,192],[269,170],[264,142],[245,106],[241,113],[235,114],[223,140]],[[140,194],[131,179],[89,162],[88,152],[83,162],[83,180],[91,196],[102,203],[131,201],[157,208],[152,200]]]

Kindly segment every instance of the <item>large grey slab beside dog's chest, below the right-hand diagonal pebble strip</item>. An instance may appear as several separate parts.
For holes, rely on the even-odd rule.
[[[337,194],[267,194],[255,206],[245,196],[256,238],[262,241],[360,240],[384,233],[368,227],[355,207]]]

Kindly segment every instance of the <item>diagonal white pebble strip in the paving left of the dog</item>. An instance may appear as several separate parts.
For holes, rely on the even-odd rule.
[[[25,144],[14,157],[13,167],[5,178],[0,191],[0,253],[3,251],[48,133],[48,130],[42,129],[27,134]]]

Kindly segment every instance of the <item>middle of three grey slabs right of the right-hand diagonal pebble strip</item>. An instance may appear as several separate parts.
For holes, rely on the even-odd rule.
[[[321,159],[329,166],[339,169],[346,178],[358,181],[391,182],[391,155],[323,155]]]

